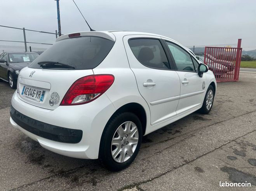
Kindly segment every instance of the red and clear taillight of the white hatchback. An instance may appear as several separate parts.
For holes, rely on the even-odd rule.
[[[110,74],[89,75],[75,81],[66,92],[61,106],[86,104],[98,98],[113,84]]]

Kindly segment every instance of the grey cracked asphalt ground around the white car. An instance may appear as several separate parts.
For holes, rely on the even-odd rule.
[[[193,113],[143,138],[127,169],[45,150],[9,122],[14,90],[0,82],[0,190],[255,190],[256,73],[217,84],[212,111]],[[250,182],[251,187],[220,187]]]

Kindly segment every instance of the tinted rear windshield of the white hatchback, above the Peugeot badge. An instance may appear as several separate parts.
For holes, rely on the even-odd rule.
[[[73,67],[73,70],[93,69],[104,60],[114,43],[114,41],[95,36],[64,39],[44,51],[29,68],[42,69],[44,67],[40,63],[58,62]],[[64,70],[65,68],[52,65],[47,69]]]

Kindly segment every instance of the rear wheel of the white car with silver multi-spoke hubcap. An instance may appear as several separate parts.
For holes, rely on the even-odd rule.
[[[131,126],[129,126],[130,122]],[[142,136],[141,121],[134,113],[125,112],[111,117],[101,136],[99,163],[110,171],[125,169],[136,158]]]

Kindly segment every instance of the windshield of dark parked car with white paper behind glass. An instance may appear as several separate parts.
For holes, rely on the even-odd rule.
[[[36,53],[9,53],[10,63],[14,62],[32,62],[39,55]]]

